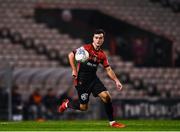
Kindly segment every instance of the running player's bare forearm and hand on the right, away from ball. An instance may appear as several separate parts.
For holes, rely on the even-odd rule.
[[[110,66],[106,67],[106,72],[108,76],[116,83],[116,87],[121,90],[122,89],[122,84],[120,83],[119,79],[117,78],[116,74],[112,70]]]

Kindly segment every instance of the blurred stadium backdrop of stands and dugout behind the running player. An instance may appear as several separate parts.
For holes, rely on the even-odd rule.
[[[96,28],[123,84],[102,67],[118,119],[180,119],[179,0],[0,0],[0,120],[105,119],[89,110],[57,113],[77,99],[67,54],[91,43]]]

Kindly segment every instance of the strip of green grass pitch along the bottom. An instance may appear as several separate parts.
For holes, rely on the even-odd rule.
[[[102,120],[0,121],[0,131],[180,131],[180,120],[121,120],[126,128],[111,128]]]

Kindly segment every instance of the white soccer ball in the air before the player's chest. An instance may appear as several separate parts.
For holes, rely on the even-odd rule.
[[[77,62],[86,62],[89,58],[89,53],[83,47],[76,50],[75,59]]]

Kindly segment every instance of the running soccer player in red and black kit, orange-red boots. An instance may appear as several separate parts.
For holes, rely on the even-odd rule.
[[[69,53],[69,62],[72,68],[72,76],[75,78],[75,88],[78,92],[79,102],[69,101],[66,99],[58,108],[59,112],[64,112],[67,108],[85,111],[88,109],[89,96],[92,93],[94,97],[100,97],[104,103],[104,108],[109,119],[111,127],[123,128],[124,124],[114,121],[113,107],[111,97],[106,87],[96,75],[99,64],[102,64],[106,69],[108,76],[114,80],[118,90],[122,89],[122,84],[111,69],[107,57],[101,46],[104,42],[105,32],[102,29],[97,29],[93,34],[92,44],[86,44],[82,47],[89,53],[89,59],[86,63],[75,64],[75,53]]]

